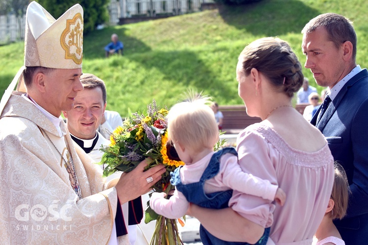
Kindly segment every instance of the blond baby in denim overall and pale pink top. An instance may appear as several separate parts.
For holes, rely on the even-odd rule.
[[[152,194],[150,206],[156,213],[178,219],[185,215],[189,202],[205,208],[226,208],[233,189],[284,204],[286,194],[277,185],[241,170],[235,148],[213,151],[219,133],[205,98],[178,103],[167,117],[168,140],[185,165],[171,173],[175,192],[170,199],[164,197],[165,193]],[[267,243],[269,230],[265,230],[259,245]],[[232,244],[214,237],[203,226],[200,236],[204,245]]]

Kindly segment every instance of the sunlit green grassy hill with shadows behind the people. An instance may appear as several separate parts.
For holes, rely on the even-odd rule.
[[[354,22],[357,63],[368,67],[368,3],[365,0],[263,0],[236,7],[96,30],[84,37],[83,72],[107,86],[107,109],[127,116],[155,98],[171,106],[188,89],[204,91],[219,104],[241,104],[235,68],[240,51],[253,40],[278,36],[302,64],[303,26],[316,15],[335,12]],[[124,56],[104,57],[112,33],[124,42]],[[0,47],[0,95],[23,65],[24,43]],[[315,85],[312,74],[305,76]],[[320,91],[322,88],[318,88]]]

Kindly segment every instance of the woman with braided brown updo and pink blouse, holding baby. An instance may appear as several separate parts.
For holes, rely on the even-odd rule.
[[[331,194],[334,160],[321,132],[291,105],[303,83],[301,65],[287,42],[262,38],[240,53],[237,81],[247,114],[263,120],[239,133],[239,165],[279,185],[286,202],[234,191],[231,208],[191,205],[188,214],[225,241],[254,244],[271,227],[267,244],[310,245]]]

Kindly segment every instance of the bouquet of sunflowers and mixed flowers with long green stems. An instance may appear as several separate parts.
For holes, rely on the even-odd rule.
[[[156,192],[165,192],[168,198],[173,189],[170,184],[170,172],[184,162],[180,161],[175,148],[167,143],[167,108],[159,109],[156,101],[147,106],[146,113],[129,111],[129,118],[123,126],[117,127],[110,135],[111,144],[104,147],[101,163],[104,163],[104,176],[116,171],[130,172],[147,157],[153,159],[147,169],[158,164],[166,167],[166,172],[153,186]],[[148,203],[145,222],[157,220],[151,245],[183,244],[179,237],[176,220],[167,219],[153,211]],[[179,220],[182,225],[184,223]]]

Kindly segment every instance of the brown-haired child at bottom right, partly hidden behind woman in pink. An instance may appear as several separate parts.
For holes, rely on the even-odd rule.
[[[335,182],[332,187],[330,200],[328,201],[326,214],[315,232],[315,238],[318,240],[316,245],[345,245],[333,220],[341,220],[345,216],[349,190],[346,173],[342,166],[335,162]]]

